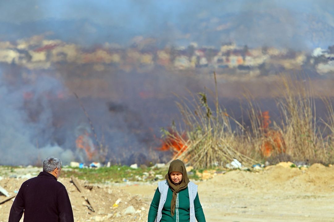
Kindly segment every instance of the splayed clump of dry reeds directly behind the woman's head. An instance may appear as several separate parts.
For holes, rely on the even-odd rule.
[[[164,131],[170,138],[177,140],[178,143],[181,140],[184,144],[184,148],[179,149],[173,159],[182,159],[194,168],[222,166],[234,158],[248,167],[257,163],[256,160],[237,151],[236,148],[240,143],[237,138],[238,133],[232,130],[231,121],[240,128],[242,125],[219,106],[217,88],[215,111],[210,109],[206,93],[197,95],[190,93],[190,95],[192,100],[176,95],[179,98],[176,104],[182,116],[184,129],[181,126],[176,129],[174,125],[174,133]],[[186,137],[181,136],[184,133]]]

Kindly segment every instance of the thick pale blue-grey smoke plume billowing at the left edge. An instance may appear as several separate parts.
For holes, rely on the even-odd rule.
[[[10,84],[6,78],[0,70],[0,163],[36,164],[51,155],[69,163],[72,151],[50,144],[52,112],[45,96],[53,95],[59,82],[41,77],[34,84],[18,83],[19,79]]]

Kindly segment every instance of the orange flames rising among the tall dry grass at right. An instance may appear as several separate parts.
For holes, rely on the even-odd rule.
[[[261,145],[261,152],[264,157],[270,157],[275,149],[278,153],[285,152],[285,142],[281,132],[269,128],[271,123],[269,111],[262,112],[263,129],[265,139]]]

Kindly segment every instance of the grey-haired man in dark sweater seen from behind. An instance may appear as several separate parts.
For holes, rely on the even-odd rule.
[[[73,212],[65,186],[57,179],[61,161],[48,157],[43,172],[22,183],[9,213],[8,222],[73,222]]]

